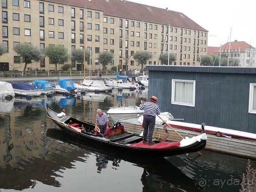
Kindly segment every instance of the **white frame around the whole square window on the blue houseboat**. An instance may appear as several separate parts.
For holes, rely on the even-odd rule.
[[[189,97],[188,100],[185,100],[185,98],[181,98],[181,100],[177,100],[175,95],[176,95],[176,87],[178,86],[177,83],[193,83],[192,88],[193,90],[191,93],[188,93],[187,96]],[[186,88],[183,88],[183,90]],[[187,88],[189,89],[189,88]],[[185,90],[188,91],[188,90]],[[184,96],[184,91],[181,91],[180,93],[182,96]],[[185,105],[185,106],[195,106],[195,101],[196,101],[196,81],[195,80],[183,80],[183,79],[172,79],[172,104],[178,104],[178,105]]]

